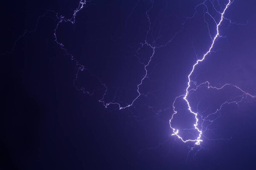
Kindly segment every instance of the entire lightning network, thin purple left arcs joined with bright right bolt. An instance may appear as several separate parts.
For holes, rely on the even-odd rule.
[[[137,1],[136,5],[135,5],[135,6],[132,8],[132,10],[131,10],[131,13],[128,15],[127,20],[128,20],[129,17],[131,17],[131,14],[133,13],[133,11],[135,10],[135,8],[137,7],[138,3],[140,3],[140,1],[143,1],[143,0],[138,0],[138,1]],[[64,16],[62,16],[62,15],[59,15],[59,14],[56,13],[55,11],[47,10],[45,14],[43,14],[43,15],[41,15],[41,16],[38,17],[38,21],[39,21],[39,19],[40,19],[41,17],[45,17],[49,12],[55,14],[55,17],[58,19],[58,23],[56,24],[55,29],[54,29],[54,32],[53,32],[54,40],[55,40],[55,42],[61,47],[61,49],[62,49],[67,55],[71,56],[71,59],[76,62],[76,66],[78,67],[78,70],[77,70],[77,72],[76,72],[76,79],[78,78],[79,71],[87,70],[87,71],[89,72],[89,74],[90,74],[92,77],[96,77],[96,79],[99,80],[100,84],[101,84],[102,87],[105,89],[105,92],[104,92],[104,94],[102,95],[102,98],[99,99],[99,102],[102,102],[103,105],[105,106],[105,108],[107,108],[109,105],[117,105],[120,110],[121,110],[121,109],[125,109],[125,108],[129,108],[129,107],[131,107],[132,105],[134,105],[134,102],[135,102],[140,96],[145,95],[145,94],[142,94],[142,93],[140,92],[140,86],[143,84],[143,81],[144,81],[146,78],[148,78],[148,66],[150,65],[151,59],[154,57],[155,51],[156,51],[158,48],[166,47],[166,45],[168,45],[170,42],[172,42],[172,40],[175,39],[176,35],[179,34],[179,33],[182,31],[183,28],[181,28],[180,30],[176,31],[175,34],[170,38],[170,40],[167,41],[166,43],[162,44],[162,45],[156,45],[156,40],[157,40],[157,39],[156,39],[156,40],[153,40],[152,43],[148,42],[147,37],[148,37],[148,34],[149,34],[150,31],[151,31],[151,25],[152,25],[152,23],[151,23],[151,18],[149,17],[149,12],[150,12],[150,10],[153,8],[153,5],[154,5],[154,0],[148,0],[147,2],[148,2],[149,4],[151,4],[151,6],[145,11],[146,20],[147,20],[147,22],[148,22],[148,30],[146,30],[145,41],[140,43],[140,46],[137,48],[137,52],[138,52],[141,48],[143,48],[144,46],[147,46],[147,47],[150,47],[150,48],[152,49],[152,53],[151,53],[151,55],[149,56],[149,59],[148,59],[148,61],[147,61],[146,63],[140,62],[140,63],[143,65],[143,68],[144,68],[144,75],[143,75],[142,79],[140,79],[140,82],[138,82],[138,84],[137,84],[137,96],[135,96],[134,99],[133,99],[129,104],[126,104],[126,105],[124,105],[124,106],[121,105],[120,102],[116,102],[115,99],[113,99],[112,102],[105,102],[105,96],[106,96],[106,93],[107,93],[107,91],[108,91],[107,85],[105,85],[105,83],[102,82],[102,81],[99,79],[99,77],[97,77],[96,75],[92,74],[92,73],[89,71],[89,69],[87,69],[87,68],[85,68],[83,65],[79,64],[79,62],[75,59],[75,57],[74,57],[72,54],[69,54],[68,51],[67,51],[67,49],[64,48],[64,44],[58,41],[58,36],[57,36],[57,30],[58,30],[58,27],[60,26],[60,24],[61,24],[61,23],[71,23],[71,24],[74,24],[75,21],[76,21],[76,15],[77,15],[77,14],[79,13],[79,11],[81,11],[81,10],[87,5],[87,3],[89,3],[89,2],[90,2],[90,0],[80,0],[80,1],[79,1],[79,6],[76,8],[75,11],[73,11],[73,15],[72,15],[71,18],[66,18],[66,17],[64,17]],[[195,9],[196,9],[198,6],[201,6],[201,5],[206,6],[206,5],[205,5],[206,2],[207,2],[207,0],[204,0],[204,2],[198,4],[198,5],[195,7]],[[212,3],[211,0],[209,0],[209,2]],[[218,111],[221,110],[221,108],[222,108],[224,105],[228,105],[228,104],[231,104],[231,103],[239,104],[239,103],[242,102],[243,99],[245,99],[247,96],[249,96],[249,97],[251,97],[251,98],[255,98],[255,97],[256,97],[256,96],[253,96],[253,95],[251,95],[251,94],[249,94],[249,93],[243,91],[243,90],[242,90],[241,88],[239,88],[238,86],[232,85],[232,84],[229,84],[229,83],[227,83],[227,84],[225,84],[225,85],[223,85],[223,86],[217,88],[217,87],[211,86],[208,81],[206,81],[206,82],[204,82],[204,83],[201,83],[201,84],[199,84],[199,85],[196,85],[196,83],[191,79],[191,76],[192,76],[192,74],[194,73],[195,67],[196,67],[200,62],[204,61],[204,59],[212,52],[212,48],[213,48],[215,42],[218,40],[219,37],[222,37],[222,36],[219,34],[219,27],[221,26],[221,23],[223,22],[223,20],[229,21],[230,24],[244,25],[244,24],[237,24],[237,23],[234,23],[234,22],[231,21],[230,19],[224,17],[224,14],[225,14],[225,12],[227,11],[227,9],[229,8],[229,6],[231,5],[231,3],[233,3],[233,1],[232,1],[232,0],[228,0],[228,3],[225,5],[225,8],[224,8],[224,10],[223,10],[222,12],[218,11],[218,10],[214,7],[214,5],[213,5],[213,3],[212,3],[213,8],[214,8],[215,11],[220,15],[220,20],[219,20],[218,22],[216,22],[215,18],[212,17],[211,14],[209,14],[208,9],[207,9],[207,11],[205,12],[205,14],[208,14],[209,17],[211,17],[212,20],[215,22],[215,24],[216,24],[216,30],[215,30],[215,31],[216,31],[216,34],[215,34],[215,36],[211,36],[211,35],[210,35],[209,26],[208,26],[208,23],[206,22],[206,23],[207,23],[207,28],[208,28],[208,31],[209,31],[209,37],[210,37],[210,39],[211,39],[211,45],[210,45],[208,51],[203,55],[203,57],[202,57],[201,59],[197,59],[197,61],[195,62],[195,64],[192,66],[192,70],[191,70],[191,72],[189,73],[189,75],[188,75],[188,77],[187,77],[187,78],[188,78],[188,82],[187,82],[185,94],[180,95],[180,96],[177,96],[177,97],[175,98],[175,101],[174,101],[173,104],[172,104],[174,113],[172,114],[172,118],[169,120],[169,125],[170,125],[170,127],[172,128],[172,136],[177,136],[178,139],[180,139],[181,141],[183,141],[183,142],[185,142],[185,143],[186,143],[186,142],[195,142],[196,145],[201,144],[201,142],[203,141],[203,140],[202,140],[202,136],[204,136],[203,133],[204,133],[204,131],[207,130],[207,128],[209,127],[209,125],[207,125],[207,127],[206,127],[205,129],[203,129],[203,124],[204,124],[204,122],[211,122],[211,123],[212,123],[213,120],[209,119],[209,116],[215,115]],[[206,7],[207,7],[207,6],[206,6]],[[195,14],[196,14],[196,12],[195,12]],[[192,17],[194,17],[195,14],[192,15]],[[184,20],[184,22],[183,22],[182,25],[185,24],[186,20],[191,19],[192,17],[185,17],[186,19]],[[205,16],[204,16],[204,17],[205,17]],[[126,26],[127,26],[127,20],[126,20],[126,22],[125,22],[125,28],[126,28],[126,29],[127,29],[127,27],[126,27]],[[24,33],[23,33],[20,37],[18,37],[17,40],[15,41],[15,44],[14,44],[12,50],[11,50],[11,51],[7,51],[5,54],[7,54],[7,53],[12,53],[12,51],[14,50],[14,48],[15,48],[15,46],[16,46],[16,42],[17,42],[18,40],[20,40],[21,37],[24,37],[25,34],[27,34],[27,33],[32,33],[32,32],[34,32],[34,31],[36,31],[37,25],[38,25],[38,21],[37,21],[37,23],[36,23],[36,25],[35,25],[35,29],[32,30],[32,31],[25,30]],[[248,22],[247,22],[247,23],[248,23]],[[4,55],[4,54],[3,54],[3,55]],[[75,84],[76,79],[74,80],[74,84]],[[192,83],[194,83],[195,88],[191,88]],[[75,87],[76,87],[76,85],[75,85]],[[215,112],[209,113],[207,116],[203,117],[203,116],[202,116],[201,114],[199,114],[198,112],[192,111],[193,109],[192,109],[191,104],[189,103],[189,99],[188,99],[188,98],[189,98],[189,94],[191,94],[192,92],[196,91],[198,88],[202,88],[202,87],[207,87],[207,88],[211,88],[211,89],[215,89],[215,90],[220,90],[220,89],[223,89],[224,87],[233,87],[233,88],[238,89],[238,90],[242,93],[242,95],[241,95],[241,98],[240,98],[239,100],[237,100],[237,101],[231,101],[231,102],[230,102],[230,101],[226,101],[226,102],[224,102]],[[77,88],[77,87],[76,87],[76,88]],[[93,95],[93,93],[90,93],[89,91],[86,91],[86,89],[84,89],[84,88],[77,88],[77,90],[83,91],[84,94]],[[197,136],[195,139],[186,139],[186,140],[183,139],[183,137],[180,136],[180,133],[179,133],[179,132],[180,132],[181,130],[184,130],[184,129],[175,129],[174,127],[172,127],[173,118],[174,118],[174,116],[177,114],[177,111],[175,110],[175,102],[176,102],[176,100],[177,100],[178,98],[180,98],[180,97],[183,97],[183,100],[186,102],[186,105],[187,105],[187,107],[188,107],[187,109],[189,110],[189,112],[190,112],[192,115],[195,116],[195,124],[194,124],[193,126],[194,126],[194,130],[196,130],[196,131],[198,132],[198,136]],[[199,116],[200,116],[201,119],[202,119],[201,125],[199,125]],[[201,127],[200,127],[200,126],[201,126]],[[209,139],[209,138],[207,138],[206,136],[204,136],[204,138]],[[209,139],[209,140],[211,140],[211,139]]]

